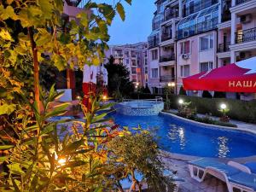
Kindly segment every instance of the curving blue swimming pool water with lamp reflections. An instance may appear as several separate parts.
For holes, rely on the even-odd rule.
[[[160,148],[172,153],[232,158],[256,154],[256,136],[250,133],[195,125],[165,114],[126,116],[113,113],[111,116],[121,126],[158,128],[156,136]]]

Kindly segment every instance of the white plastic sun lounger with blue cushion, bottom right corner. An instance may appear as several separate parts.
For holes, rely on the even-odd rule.
[[[224,164],[218,160],[199,159],[189,161],[189,173],[196,181],[202,182],[207,174],[227,183],[229,192],[256,191],[256,175],[251,174],[247,166],[236,162]]]

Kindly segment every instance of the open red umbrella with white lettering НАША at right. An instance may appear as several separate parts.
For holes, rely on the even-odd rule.
[[[184,90],[256,92],[256,57],[183,79]]]

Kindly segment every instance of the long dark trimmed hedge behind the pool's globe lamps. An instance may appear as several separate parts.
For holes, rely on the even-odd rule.
[[[140,99],[153,99],[154,94],[140,94]],[[166,96],[162,95],[165,99]],[[132,94],[131,98],[137,99],[137,94]],[[197,113],[212,113],[213,116],[220,116],[218,111],[220,103],[225,103],[230,112],[227,113],[230,119],[237,119],[248,123],[256,123],[256,100],[247,102],[226,98],[203,98],[197,96],[177,96],[169,95],[171,108],[177,109],[177,100],[182,98],[184,102],[191,102],[191,108],[196,108]]]

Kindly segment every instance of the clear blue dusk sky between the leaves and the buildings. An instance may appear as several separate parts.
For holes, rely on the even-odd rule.
[[[113,3],[113,0],[96,0],[96,2]],[[151,32],[151,21],[155,11],[155,0],[132,0],[132,5],[125,3],[126,18],[123,22],[119,15],[109,28],[109,44],[134,44],[147,41]]]

